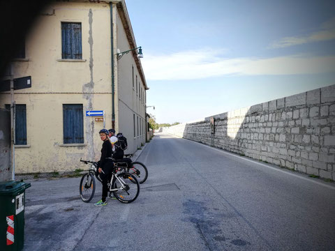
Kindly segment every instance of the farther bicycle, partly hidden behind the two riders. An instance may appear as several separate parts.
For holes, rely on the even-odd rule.
[[[125,172],[128,172],[130,174],[133,174],[137,178],[137,181],[140,182],[140,184],[144,183],[144,181],[147,181],[148,178],[148,169],[147,167],[139,161],[132,161],[131,157],[133,157],[133,154],[125,154],[126,158],[123,160],[114,160],[117,161],[120,167],[124,167]]]

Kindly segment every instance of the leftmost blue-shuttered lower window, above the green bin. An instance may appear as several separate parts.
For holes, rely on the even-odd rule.
[[[10,109],[10,105],[6,105]],[[27,108],[15,105],[15,145],[27,145]]]

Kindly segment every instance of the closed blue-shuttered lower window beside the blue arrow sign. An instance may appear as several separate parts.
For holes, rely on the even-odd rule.
[[[84,143],[82,104],[63,105],[64,144]]]

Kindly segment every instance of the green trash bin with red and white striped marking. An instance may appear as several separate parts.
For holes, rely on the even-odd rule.
[[[30,183],[0,182],[0,250],[22,250],[25,190]]]

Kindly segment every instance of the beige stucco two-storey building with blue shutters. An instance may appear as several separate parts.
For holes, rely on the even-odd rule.
[[[15,78],[31,76],[31,88],[15,91],[15,172],[85,168],[80,158],[100,158],[104,124],[127,137],[126,153],[145,143],[141,62],[137,50],[117,56],[136,47],[124,0],[55,1],[38,16],[12,63]],[[0,93],[1,108],[8,104],[9,92]]]

